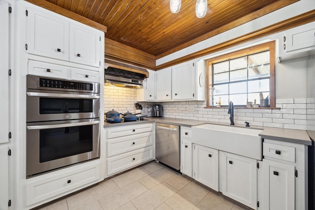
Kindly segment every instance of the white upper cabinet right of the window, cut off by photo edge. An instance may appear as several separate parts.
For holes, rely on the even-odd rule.
[[[315,22],[279,33],[278,61],[309,55],[315,46]]]

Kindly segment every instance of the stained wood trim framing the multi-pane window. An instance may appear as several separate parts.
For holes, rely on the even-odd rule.
[[[206,94],[207,94],[207,106],[205,108],[217,108],[217,107],[213,107],[210,106],[209,104],[209,90],[212,87],[212,84],[210,84],[210,69],[209,66],[214,63],[214,62],[222,62],[225,60],[231,60],[231,59],[235,59],[235,58],[239,58],[239,57],[243,57],[243,56],[248,56],[254,53],[258,53],[261,51],[265,51],[265,50],[269,50],[270,53],[270,90],[269,90],[269,96],[270,96],[270,107],[259,107],[258,109],[279,109],[276,107],[276,87],[275,87],[275,61],[276,61],[276,54],[275,54],[275,43],[276,41],[271,41],[271,42],[267,42],[267,43],[263,43],[263,44],[259,44],[259,45],[255,45],[249,48],[245,48],[242,50],[238,50],[232,53],[228,53],[225,55],[221,55],[215,58],[211,58],[206,60],[206,81],[207,81],[207,90],[206,90]],[[211,72],[212,74],[212,72]],[[218,107],[220,108],[220,107]],[[224,107],[222,107],[224,108]],[[235,108],[247,108],[247,107],[237,107],[235,106]],[[257,109],[257,108],[247,108],[247,109]]]

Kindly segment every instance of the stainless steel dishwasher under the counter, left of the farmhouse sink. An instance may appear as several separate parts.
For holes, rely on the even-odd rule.
[[[156,123],[156,159],[180,170],[180,129],[178,125]]]

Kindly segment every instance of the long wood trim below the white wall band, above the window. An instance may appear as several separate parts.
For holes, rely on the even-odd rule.
[[[261,37],[264,37],[273,33],[277,33],[283,30],[295,28],[295,27],[298,27],[307,23],[314,22],[314,21],[315,21],[315,10],[312,10],[312,11],[303,13],[301,15],[289,18],[287,20],[281,21],[279,23],[273,24],[271,26],[262,28],[260,30],[252,31],[251,33],[239,36],[237,38],[234,38],[234,39],[222,42],[220,44],[208,47],[206,49],[200,50],[198,52],[189,54],[185,57],[163,63],[161,65],[158,65],[156,67],[156,70],[160,70],[160,69],[163,69],[172,65],[176,65],[178,63],[182,63],[188,60],[200,58],[200,57],[203,57],[203,56],[215,53],[215,52],[219,52],[227,48],[231,48],[236,45],[240,45],[242,43],[252,41],[254,39],[258,39],[258,38],[261,38]]]

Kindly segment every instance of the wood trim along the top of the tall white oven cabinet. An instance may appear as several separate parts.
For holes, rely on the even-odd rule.
[[[91,26],[91,27],[93,27],[95,29],[102,30],[105,33],[107,32],[107,27],[106,26],[103,26],[103,25],[101,25],[99,23],[96,23],[95,21],[92,21],[92,20],[90,20],[88,18],[85,18],[85,17],[83,17],[81,15],[78,15],[78,14],[76,14],[74,12],[66,10],[63,7],[60,7],[60,6],[55,5],[53,3],[50,3],[50,2],[48,2],[46,0],[26,0],[26,1],[28,1],[28,2],[30,2],[32,4],[35,4],[37,6],[43,7],[45,9],[48,9],[50,11],[56,12],[56,13],[58,13],[60,15],[63,15],[65,17],[67,17],[67,18],[70,18],[72,20],[75,20],[75,21],[78,21],[78,22],[83,23],[85,25]]]

